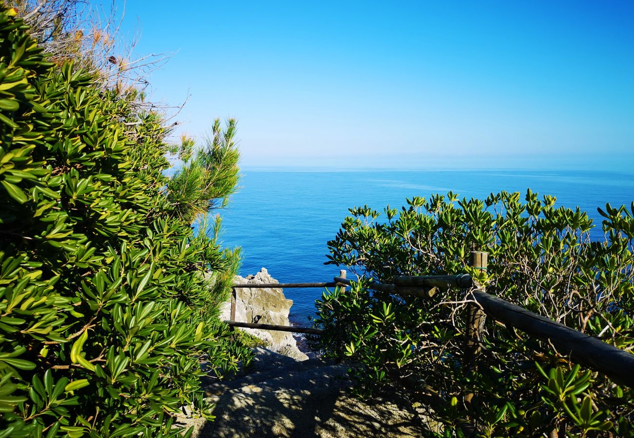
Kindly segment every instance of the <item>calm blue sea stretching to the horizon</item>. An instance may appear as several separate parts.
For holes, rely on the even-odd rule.
[[[484,198],[491,192],[527,187],[557,197],[557,204],[588,211],[600,232],[597,207],[634,201],[634,174],[552,171],[280,172],[243,170],[240,191],[223,217],[224,246],[241,246],[245,276],[266,267],[280,282],[325,282],[339,268],[324,265],[326,242],[335,237],[348,208],[368,204],[378,211],[400,207],[406,197],[453,191]],[[523,197],[521,198],[523,199]],[[314,314],[320,289],[286,289],[294,301],[291,319]]]

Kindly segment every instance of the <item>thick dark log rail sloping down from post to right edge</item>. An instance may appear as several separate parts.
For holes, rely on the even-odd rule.
[[[559,353],[634,387],[634,354],[482,291],[472,292],[491,318],[553,343]]]

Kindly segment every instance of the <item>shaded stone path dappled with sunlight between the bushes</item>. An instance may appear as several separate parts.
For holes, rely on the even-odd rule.
[[[367,403],[349,392],[347,366],[320,358],[296,361],[258,349],[255,372],[207,384],[214,422],[181,418],[198,438],[421,437],[418,415],[396,403]]]

